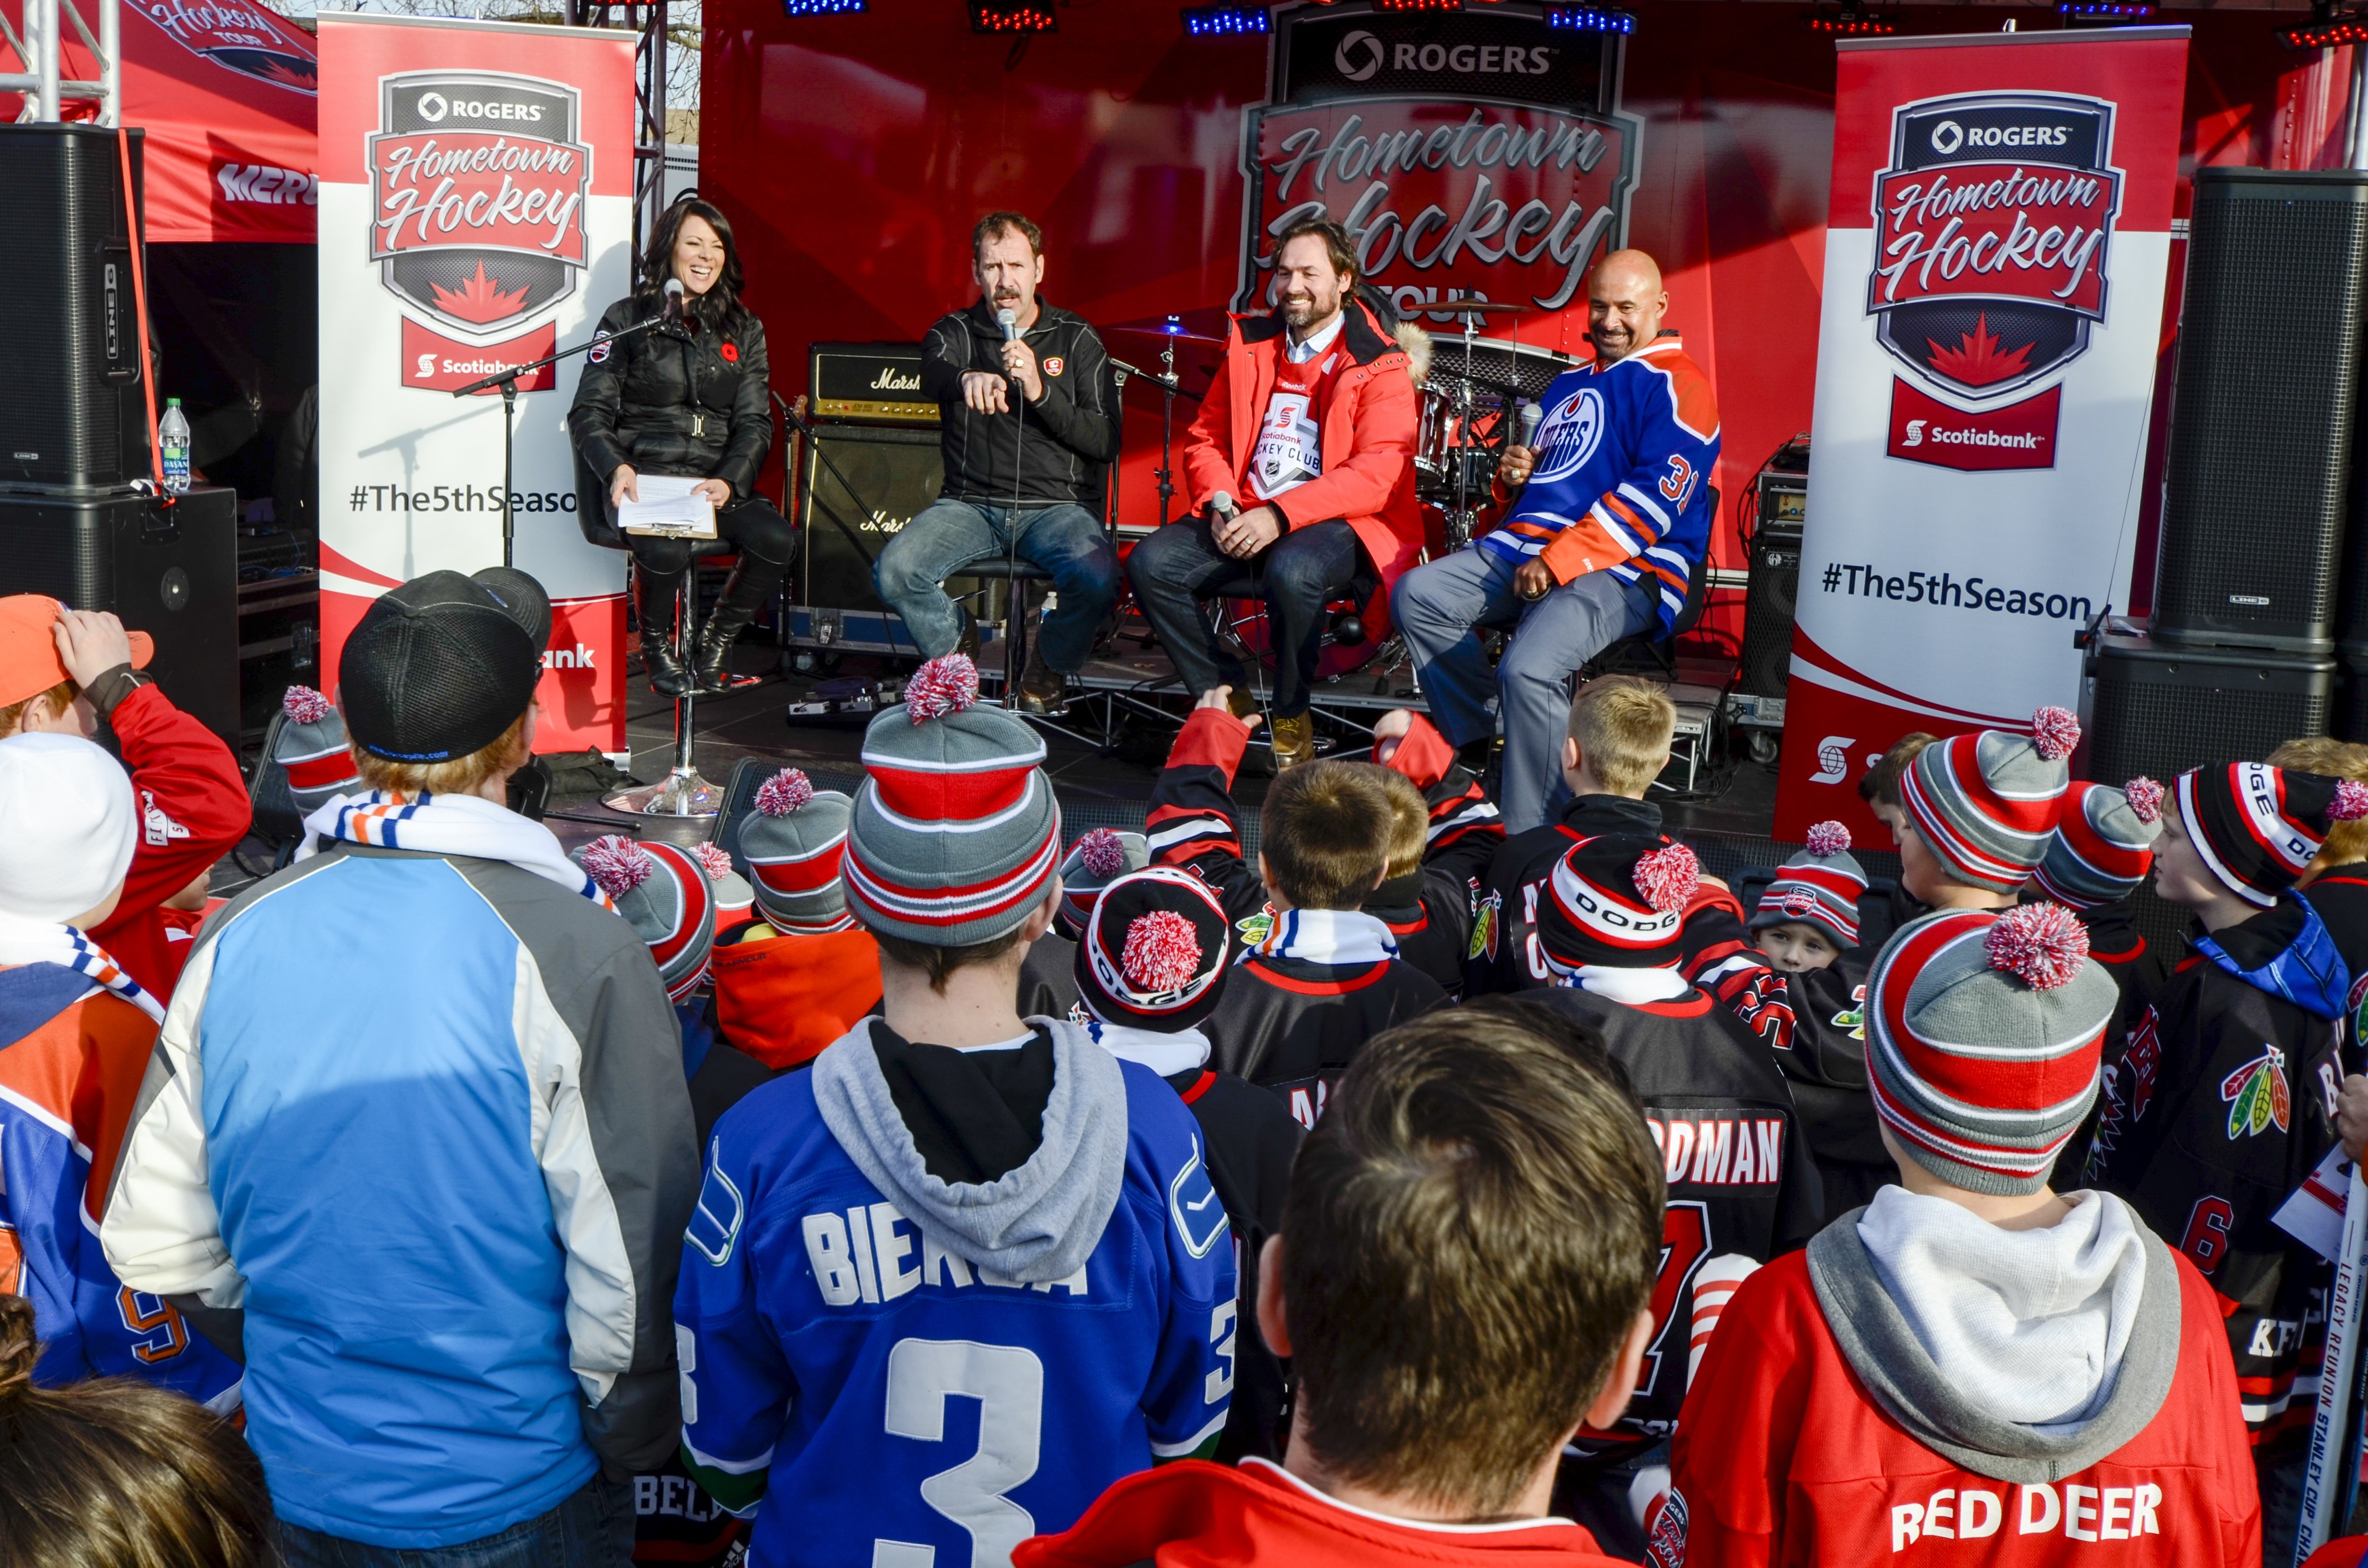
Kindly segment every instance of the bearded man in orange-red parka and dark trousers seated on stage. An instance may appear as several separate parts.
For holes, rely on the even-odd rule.
[[[1407,348],[1397,324],[1357,298],[1357,246],[1338,220],[1283,230],[1274,298],[1274,315],[1234,317],[1184,441],[1198,516],[1137,545],[1127,576],[1184,692],[1234,687],[1236,718],[1257,711],[1255,687],[1210,635],[1201,602],[1267,602],[1276,651],[1267,734],[1274,765],[1288,767],[1314,756],[1307,687],[1326,599],[1362,580],[1388,602],[1423,550],[1423,514]]]

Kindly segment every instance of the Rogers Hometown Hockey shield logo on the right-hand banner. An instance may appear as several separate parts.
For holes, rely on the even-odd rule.
[[[2112,104],[1968,92],[1904,104],[1875,175],[1875,339],[1916,379],[1989,400],[2089,348],[2105,320]]]

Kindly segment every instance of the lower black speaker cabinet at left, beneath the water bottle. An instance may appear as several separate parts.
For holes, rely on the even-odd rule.
[[[9,495],[0,490],[0,595],[109,609],[156,640],[149,673],[173,703],[239,746],[239,495]]]

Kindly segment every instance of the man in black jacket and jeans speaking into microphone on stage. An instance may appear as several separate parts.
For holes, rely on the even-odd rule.
[[[1028,649],[1021,708],[1058,713],[1118,602],[1118,552],[1099,519],[1118,460],[1118,381],[1085,317],[1037,298],[1042,239],[1018,213],[987,213],[971,230],[978,303],[942,317],[921,346],[921,393],[942,410],[945,488],[888,540],[871,580],[921,656],[938,658],[976,651],[945,578],[1006,552],[1042,566],[1058,606]]]

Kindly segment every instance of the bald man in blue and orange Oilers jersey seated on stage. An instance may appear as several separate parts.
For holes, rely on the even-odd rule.
[[[1390,618],[1414,649],[1430,718],[1463,746],[1504,720],[1504,831],[1568,801],[1558,753],[1570,675],[1620,637],[1669,630],[1710,545],[1719,405],[1710,377],[1660,329],[1669,296],[1643,251],[1587,279],[1594,365],[1556,377],[1534,445],[1497,467],[1504,523],[1397,580]],[[1518,621],[1497,673],[1480,625]]]

